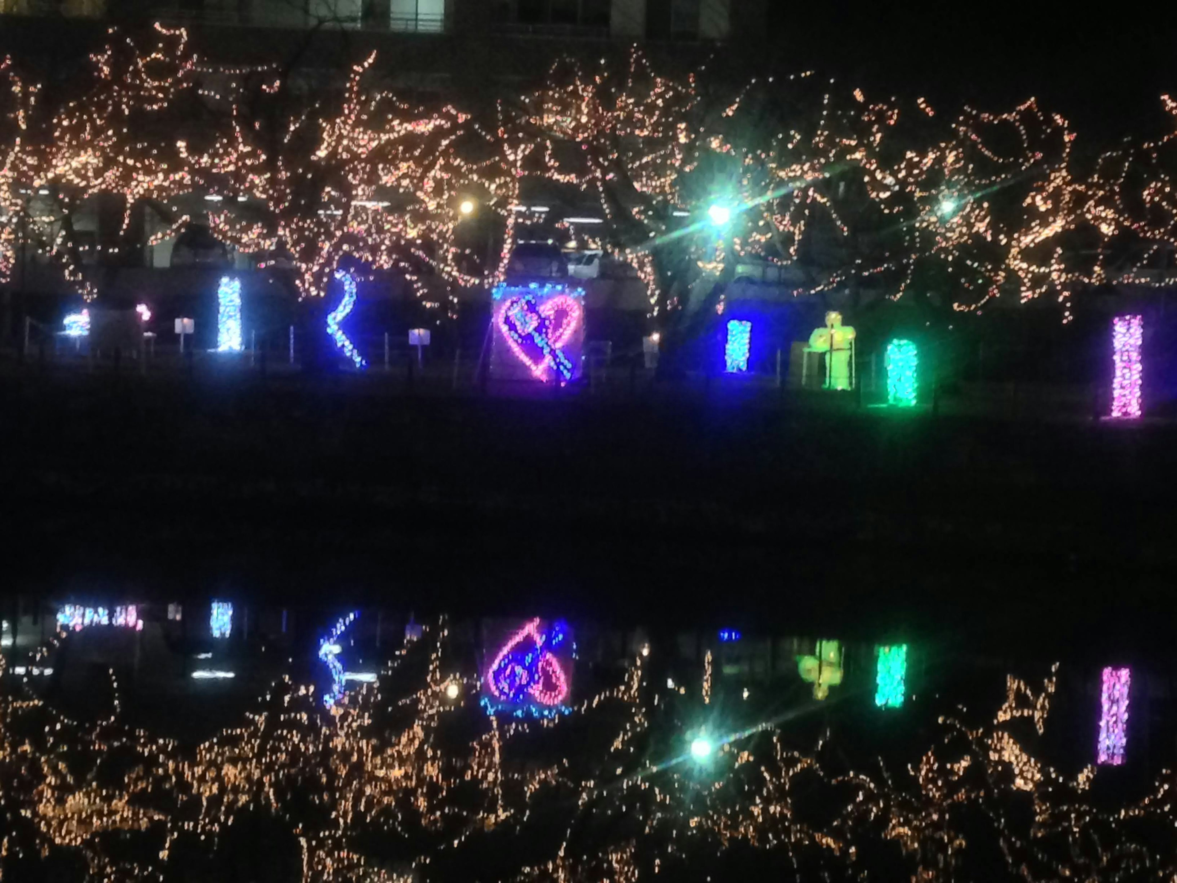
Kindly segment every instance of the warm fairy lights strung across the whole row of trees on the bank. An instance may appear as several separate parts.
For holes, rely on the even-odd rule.
[[[122,200],[118,241],[98,246],[120,252],[141,245],[137,205],[160,215],[158,243],[192,217],[177,200],[198,194],[212,232],[258,266],[288,252],[304,297],[366,265],[453,316],[460,290],[503,280],[526,179],[599,204],[597,243],[636,268],[654,316],[749,259],[792,273],[798,294],[918,291],[958,311],[1045,298],[1064,321],[1084,286],[1173,281],[1177,126],[1089,161],[1035,100],[949,119],[812,72],[727,94],[705,69],[667,77],[638,49],[620,66],[561,60],[487,122],[377,88],[374,60],[338,100],[298,104],[274,67],[212,65],[184,29],[112,32],[85,95],[48,107],[4,59],[0,278],[31,246],[92,297],[85,205]],[[191,132],[178,121],[197,106]],[[1177,101],[1163,107],[1177,121]]]

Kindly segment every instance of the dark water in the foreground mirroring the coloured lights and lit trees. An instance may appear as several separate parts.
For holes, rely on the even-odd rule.
[[[12,878],[1177,874],[1146,664],[218,604],[6,620]]]

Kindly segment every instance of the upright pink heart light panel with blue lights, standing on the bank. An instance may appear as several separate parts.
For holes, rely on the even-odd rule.
[[[579,357],[571,350],[584,334],[584,291],[531,285],[511,288],[519,293],[504,298],[506,291],[494,291],[501,300],[496,323],[503,339],[532,377],[563,386],[579,373]]]

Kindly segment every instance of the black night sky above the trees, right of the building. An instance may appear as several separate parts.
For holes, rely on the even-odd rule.
[[[767,4],[778,64],[845,78],[867,98],[893,92],[943,111],[962,101],[1004,111],[1033,95],[1084,139],[1169,131],[1159,101],[1177,94],[1169,4]]]

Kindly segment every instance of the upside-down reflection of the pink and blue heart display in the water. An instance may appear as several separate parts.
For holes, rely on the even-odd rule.
[[[541,629],[538,618],[527,620],[521,629],[503,642],[486,668],[484,688],[488,696],[484,704],[492,709],[530,708],[539,713],[566,712],[571,684],[565,671],[571,638],[567,625],[560,620],[550,629]]]

